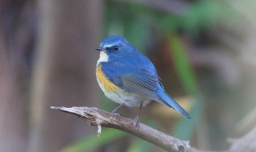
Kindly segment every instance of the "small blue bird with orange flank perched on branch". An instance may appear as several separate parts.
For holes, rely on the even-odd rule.
[[[96,77],[99,87],[113,102],[118,103],[112,113],[122,107],[140,107],[135,121],[138,123],[140,110],[151,101],[159,102],[192,119],[166,92],[159,80],[154,64],[121,36],[108,36],[99,47]]]

